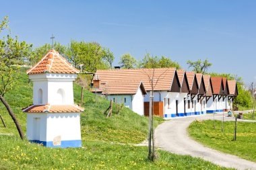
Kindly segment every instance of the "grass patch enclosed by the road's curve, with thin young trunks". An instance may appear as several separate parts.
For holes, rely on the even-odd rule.
[[[224,133],[221,121],[216,121],[216,129],[213,124],[213,120],[193,122],[189,134],[206,146],[256,162],[256,123],[237,122],[236,141],[233,141],[234,122],[224,122]]]

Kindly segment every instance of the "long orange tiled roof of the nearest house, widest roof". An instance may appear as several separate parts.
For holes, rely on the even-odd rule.
[[[154,87],[156,91],[168,91],[172,85],[174,78],[174,68],[160,68],[160,69],[112,69],[112,70],[98,70],[96,71],[95,77],[98,76],[100,79],[100,86],[102,83],[119,83],[120,86],[125,85],[121,82],[135,81],[137,83],[143,82],[143,86],[146,91],[150,91],[150,78],[154,73],[154,85],[158,79],[158,83]],[[100,87],[101,88],[101,87]],[[125,88],[120,88],[119,93],[123,93]]]

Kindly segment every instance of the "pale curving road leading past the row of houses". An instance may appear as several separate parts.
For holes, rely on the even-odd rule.
[[[216,120],[222,120],[222,114],[216,114],[215,117]],[[195,119],[207,120],[212,118],[212,115],[207,115],[189,118],[174,118],[170,121],[166,121],[156,128],[156,146],[159,146],[165,151],[169,151],[171,153],[200,157],[222,167],[232,167],[235,169],[256,169],[256,163],[238,158],[234,155],[220,153],[212,148],[207,148],[189,137],[187,128],[191,122],[193,122]],[[234,120],[234,118],[224,118],[224,120]]]

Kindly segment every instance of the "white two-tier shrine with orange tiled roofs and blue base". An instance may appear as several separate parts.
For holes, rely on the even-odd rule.
[[[59,52],[50,50],[27,71],[33,82],[33,105],[27,113],[27,138],[47,147],[81,147],[80,114],[73,102],[79,71]]]

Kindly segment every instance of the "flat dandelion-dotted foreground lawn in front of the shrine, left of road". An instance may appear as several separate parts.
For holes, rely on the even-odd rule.
[[[202,159],[158,151],[154,163],[147,148],[109,142],[83,142],[84,148],[45,148],[0,135],[0,169],[224,169]]]

